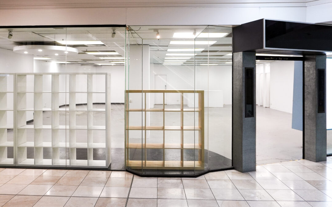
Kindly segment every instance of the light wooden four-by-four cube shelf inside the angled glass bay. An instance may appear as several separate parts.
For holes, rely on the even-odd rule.
[[[130,108],[129,95],[131,93],[141,93],[144,108]],[[163,94],[163,107],[162,108],[148,108],[147,107],[147,93],[162,93]],[[165,108],[165,94],[167,93],[180,93],[181,105],[179,109]],[[183,97],[184,93],[196,93],[198,95],[198,107],[194,109],[184,109]],[[126,90],[126,142],[125,142],[125,157],[126,166],[132,169],[204,169],[204,90]],[[142,126],[129,126],[130,112],[142,112],[143,123]],[[147,113],[149,112],[161,112],[163,114],[163,126],[147,126]],[[180,126],[165,126],[165,113],[179,112],[181,115]],[[184,126],[184,113],[197,112],[198,113],[198,126]],[[142,130],[143,139],[141,143],[132,143],[129,139],[129,134],[132,130]],[[159,130],[163,131],[162,143],[147,143],[147,131]],[[177,130],[180,131],[181,138],[179,143],[165,143],[165,131]],[[183,133],[184,131],[197,131],[198,143],[184,143]],[[194,133],[195,134],[195,133]],[[193,135],[194,136],[194,135]],[[160,138],[160,137],[159,137]],[[194,137],[193,137],[194,138]],[[154,137],[150,137],[150,140]],[[160,140],[160,139],[159,139]],[[130,149],[142,149],[143,160],[130,160]],[[161,149],[163,150],[163,160],[147,160],[148,149]],[[165,160],[165,150],[177,149],[181,151],[178,161]],[[198,160],[185,161],[184,150],[198,150]],[[193,158],[195,159],[195,158]]]

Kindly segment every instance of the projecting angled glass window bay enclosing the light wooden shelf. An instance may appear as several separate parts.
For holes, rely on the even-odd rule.
[[[197,175],[231,163],[232,29],[129,26],[126,169]]]

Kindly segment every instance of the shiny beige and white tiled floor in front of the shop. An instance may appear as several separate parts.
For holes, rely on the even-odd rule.
[[[198,178],[124,171],[0,169],[2,206],[332,206],[332,158],[297,160]]]

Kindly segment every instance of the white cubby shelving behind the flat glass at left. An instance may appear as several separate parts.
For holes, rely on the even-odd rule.
[[[9,79],[12,79],[10,87]],[[108,168],[110,86],[108,73],[0,76],[0,165]],[[12,94],[10,100],[8,93]],[[105,108],[94,107],[94,103],[105,103]],[[8,112],[12,112],[11,117]],[[12,139],[7,138],[10,129]],[[8,147],[13,147],[12,156],[7,152]],[[102,155],[94,157],[94,150]]]

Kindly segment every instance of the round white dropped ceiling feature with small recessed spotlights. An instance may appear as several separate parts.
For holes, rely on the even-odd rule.
[[[76,55],[78,50],[73,47],[55,45],[21,45],[15,46],[13,51],[30,55]]]

